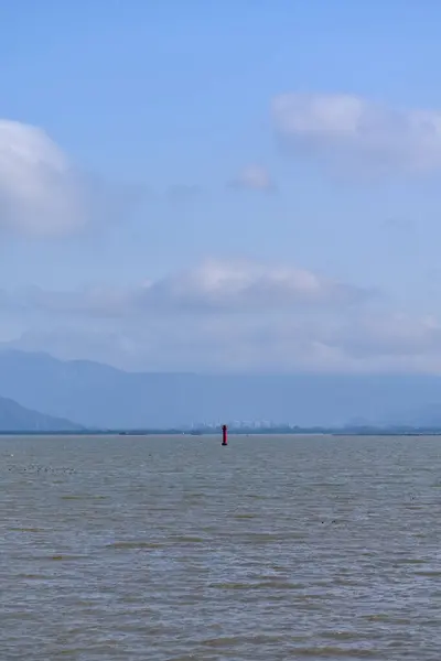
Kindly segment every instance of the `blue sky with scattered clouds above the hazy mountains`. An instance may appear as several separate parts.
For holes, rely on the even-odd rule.
[[[0,8],[0,343],[441,371],[441,6]]]

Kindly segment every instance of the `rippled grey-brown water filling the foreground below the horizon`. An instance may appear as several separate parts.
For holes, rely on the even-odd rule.
[[[0,438],[2,661],[441,650],[441,438]]]

